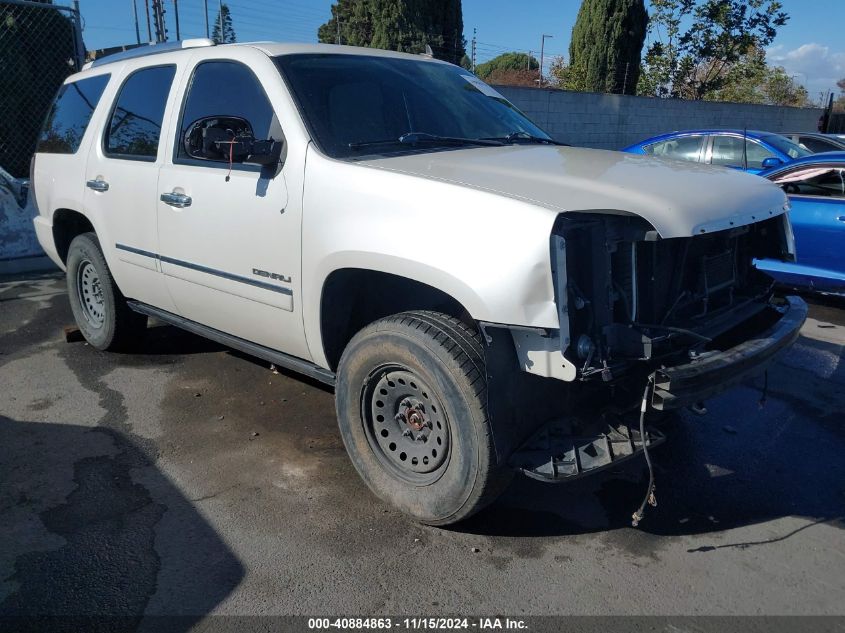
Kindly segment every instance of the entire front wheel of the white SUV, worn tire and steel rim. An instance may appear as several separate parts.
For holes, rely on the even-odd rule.
[[[343,352],[335,393],[358,473],[416,520],[465,519],[510,482],[493,447],[481,337],[462,321],[405,312],[367,326]]]

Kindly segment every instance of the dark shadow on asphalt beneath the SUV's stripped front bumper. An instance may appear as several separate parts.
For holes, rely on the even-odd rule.
[[[782,517],[845,528],[845,362],[842,347],[802,337],[762,381],[708,403],[698,417],[667,418],[653,453],[657,508],[639,530],[657,536],[718,533]],[[456,526],[493,536],[574,535],[631,527],[646,486],[642,460],[565,484],[518,477],[493,506]],[[721,542],[691,551],[752,547]]]

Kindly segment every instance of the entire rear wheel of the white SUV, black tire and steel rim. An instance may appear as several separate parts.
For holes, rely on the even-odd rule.
[[[143,339],[147,317],[126,304],[96,234],[77,235],[70,243],[67,286],[76,325],[92,347],[128,350]]]

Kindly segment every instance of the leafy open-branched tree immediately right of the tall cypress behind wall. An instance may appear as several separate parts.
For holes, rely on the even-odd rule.
[[[651,7],[653,42],[638,92],[681,99],[722,90],[748,51],[771,44],[789,20],[777,0],[652,0]]]

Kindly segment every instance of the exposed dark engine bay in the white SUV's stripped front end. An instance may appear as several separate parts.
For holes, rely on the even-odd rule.
[[[790,259],[790,236],[785,216],[673,239],[634,216],[561,216],[552,261],[577,378],[610,382],[636,366],[688,363],[766,330],[781,314],[754,260]]]

